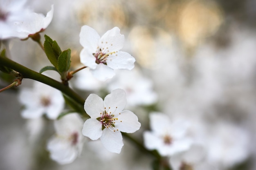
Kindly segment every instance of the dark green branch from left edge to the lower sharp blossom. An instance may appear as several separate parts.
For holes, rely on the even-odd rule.
[[[29,79],[34,79],[38,82],[42,82],[44,84],[47,84],[49,86],[52,86],[59,91],[63,92],[65,95],[69,96],[72,98],[74,101],[77,103],[83,105],[85,102],[85,99],[83,99],[81,96],[79,96],[77,93],[75,93],[71,88],[68,86],[65,86],[61,82],[58,82],[50,77],[47,77],[43,74],[37,73],[25,66],[22,66],[6,57],[0,57],[0,64],[7,66],[15,71],[18,71],[23,78],[29,78]]]

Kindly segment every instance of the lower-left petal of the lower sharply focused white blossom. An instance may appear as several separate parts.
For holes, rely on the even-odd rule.
[[[82,133],[92,140],[99,139],[102,135],[101,122],[94,118],[87,119],[83,124]]]

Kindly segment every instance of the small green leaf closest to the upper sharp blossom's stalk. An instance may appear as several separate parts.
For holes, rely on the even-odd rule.
[[[58,71],[65,72],[70,68],[71,63],[71,50],[67,49],[58,57]]]

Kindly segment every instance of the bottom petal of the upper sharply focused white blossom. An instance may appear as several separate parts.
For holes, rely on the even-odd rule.
[[[95,78],[101,81],[105,81],[115,75],[115,71],[112,68],[102,63],[98,64],[96,69],[90,69],[90,71]]]

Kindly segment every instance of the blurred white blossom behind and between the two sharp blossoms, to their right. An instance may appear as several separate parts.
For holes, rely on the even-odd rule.
[[[116,79],[110,82],[108,89],[122,88],[127,95],[127,104],[131,106],[149,105],[157,101],[153,91],[153,82],[142,76],[139,70],[120,71]]]

